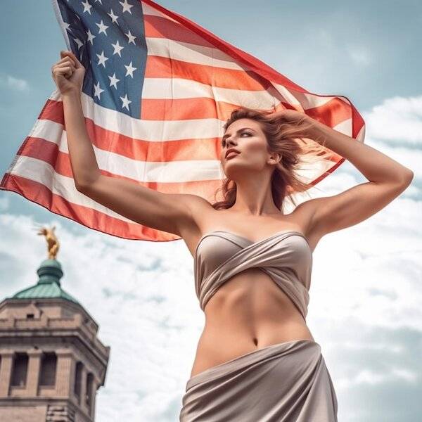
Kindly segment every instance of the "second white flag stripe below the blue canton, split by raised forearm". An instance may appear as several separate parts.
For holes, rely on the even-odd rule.
[[[67,134],[59,123],[39,120],[32,136],[56,143],[60,152],[69,153]],[[92,147],[101,170],[137,181],[171,183],[215,180],[223,177],[219,160],[141,161],[105,151],[95,145]]]

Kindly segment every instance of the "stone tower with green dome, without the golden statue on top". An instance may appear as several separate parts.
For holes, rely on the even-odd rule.
[[[0,302],[0,421],[92,422],[110,347],[98,324],[60,286],[56,259],[37,284]]]

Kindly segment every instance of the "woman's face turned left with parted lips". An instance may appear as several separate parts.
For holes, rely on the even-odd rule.
[[[220,161],[226,177],[235,180],[238,174],[261,172],[268,165],[270,157],[268,143],[258,122],[251,119],[239,119],[227,127],[222,137]],[[229,148],[238,153],[226,156]]]

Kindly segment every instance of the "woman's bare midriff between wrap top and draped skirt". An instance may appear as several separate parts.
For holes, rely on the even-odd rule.
[[[260,269],[226,281],[205,305],[191,377],[276,343],[314,340],[298,308]]]

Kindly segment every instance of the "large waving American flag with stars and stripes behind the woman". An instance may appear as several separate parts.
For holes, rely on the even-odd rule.
[[[153,1],[53,0],[53,7],[68,49],[86,69],[82,108],[103,174],[212,202],[224,179],[219,162],[223,124],[239,106],[298,110],[364,141],[364,120],[345,96],[312,94]],[[56,90],[0,188],[113,236],[179,239],[76,190],[64,123]],[[299,176],[314,185],[343,161],[333,153]]]

